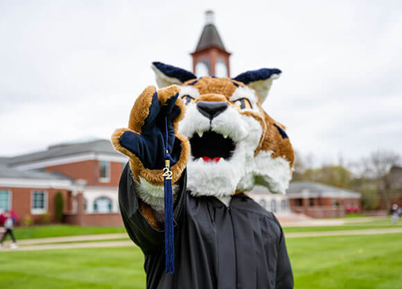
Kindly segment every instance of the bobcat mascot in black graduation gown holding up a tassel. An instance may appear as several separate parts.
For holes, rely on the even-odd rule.
[[[152,63],[128,128],[112,135],[129,157],[119,185],[121,215],[145,254],[148,289],[293,287],[275,216],[243,192],[285,193],[294,152],[261,104],[279,69],[197,78]]]

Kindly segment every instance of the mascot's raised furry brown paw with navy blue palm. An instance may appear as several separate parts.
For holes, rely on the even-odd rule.
[[[154,185],[164,183],[162,176],[167,148],[171,155],[173,183],[182,175],[189,159],[189,141],[177,133],[178,122],[184,117],[185,105],[178,98],[180,87],[164,89],[147,87],[132,107],[128,128],[117,129],[112,135],[116,150],[130,157],[132,175]]]

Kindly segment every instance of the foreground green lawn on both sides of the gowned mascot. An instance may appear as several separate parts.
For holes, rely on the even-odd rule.
[[[287,243],[295,288],[401,288],[402,234]],[[0,287],[8,289],[145,288],[143,255],[134,246],[0,252],[0,272]]]

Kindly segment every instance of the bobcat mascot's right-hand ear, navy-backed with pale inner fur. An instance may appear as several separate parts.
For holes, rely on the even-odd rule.
[[[270,91],[272,80],[279,78],[281,73],[282,71],[276,68],[263,68],[243,72],[233,79],[254,89],[259,95],[261,103],[263,103],[268,96],[268,91]]]

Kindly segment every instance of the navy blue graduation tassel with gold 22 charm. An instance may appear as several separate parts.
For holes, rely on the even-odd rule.
[[[166,273],[175,272],[175,232],[173,231],[173,190],[171,171],[171,155],[168,150],[168,119],[165,118],[166,125],[166,154],[164,167],[164,195],[165,195],[165,259]]]

